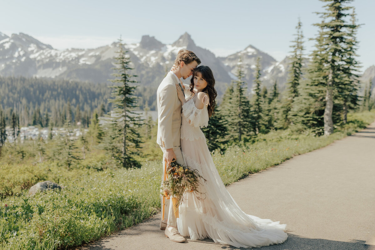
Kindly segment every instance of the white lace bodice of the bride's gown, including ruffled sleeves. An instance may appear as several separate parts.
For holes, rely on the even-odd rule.
[[[208,126],[208,96],[203,98],[204,106],[202,109],[195,106],[196,96],[194,95],[182,105],[181,139],[193,141],[198,138],[205,138],[200,128]]]

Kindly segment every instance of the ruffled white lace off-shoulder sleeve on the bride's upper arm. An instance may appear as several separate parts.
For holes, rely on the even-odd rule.
[[[204,100],[203,109],[196,108],[194,100],[188,100],[182,105],[182,117],[186,119],[190,125],[194,127],[207,127],[208,126],[208,111],[207,104],[208,100]]]

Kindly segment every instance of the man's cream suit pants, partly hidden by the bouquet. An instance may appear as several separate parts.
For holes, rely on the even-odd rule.
[[[164,169],[164,164],[165,164],[164,156],[165,156],[166,150],[163,149],[162,147],[160,147],[160,148],[163,151],[163,165],[162,166],[163,166],[163,169]],[[182,156],[181,147],[180,146],[173,147],[173,151],[176,154],[177,163],[184,164],[184,159],[183,159],[183,156]],[[163,181],[164,181],[164,175],[162,174],[162,183],[163,183]],[[160,196],[160,204],[161,204],[161,206],[163,206],[163,196]],[[167,223],[169,226],[174,226],[174,227],[177,226],[177,220],[176,220],[176,217],[174,216],[173,204],[171,202],[171,199],[165,199],[163,222]]]

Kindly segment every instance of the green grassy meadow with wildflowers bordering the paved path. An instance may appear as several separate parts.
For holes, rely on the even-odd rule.
[[[337,127],[330,136],[316,137],[308,131],[302,134],[293,130],[273,131],[259,135],[253,144],[231,146],[225,154],[213,152],[214,163],[228,185],[344,138],[374,118],[375,112],[349,114],[348,123]],[[28,148],[35,144],[27,143],[30,143]],[[71,169],[48,159],[52,144],[46,145],[42,161],[35,151],[20,154],[22,149],[7,146],[0,159],[0,249],[52,250],[80,246],[160,211],[162,166],[156,143],[144,145],[148,157],[141,159],[139,169],[119,168],[105,151],[91,144],[86,160]],[[44,180],[64,188],[60,192],[27,194],[33,184]]]

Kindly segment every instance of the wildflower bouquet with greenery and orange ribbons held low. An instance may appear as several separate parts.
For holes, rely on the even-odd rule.
[[[178,218],[178,206],[183,200],[185,192],[195,193],[198,199],[202,199],[199,196],[204,193],[199,192],[199,180],[205,180],[198,172],[189,166],[178,164],[175,160],[171,162],[171,165],[166,169],[165,181],[163,181],[161,189],[161,195],[164,199],[172,199],[173,209],[176,218]],[[164,214],[164,213],[163,213]]]

